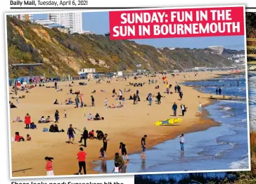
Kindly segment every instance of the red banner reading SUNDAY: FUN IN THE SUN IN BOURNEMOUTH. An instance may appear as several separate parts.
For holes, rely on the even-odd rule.
[[[110,11],[110,39],[245,35],[243,6]]]

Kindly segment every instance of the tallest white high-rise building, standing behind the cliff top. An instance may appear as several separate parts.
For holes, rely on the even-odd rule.
[[[82,12],[77,13],[49,13],[48,19],[68,27],[70,33],[83,33]]]

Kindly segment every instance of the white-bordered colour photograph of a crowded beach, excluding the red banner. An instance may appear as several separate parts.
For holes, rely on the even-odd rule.
[[[11,178],[249,171],[245,35],[113,41],[108,16],[6,14]]]

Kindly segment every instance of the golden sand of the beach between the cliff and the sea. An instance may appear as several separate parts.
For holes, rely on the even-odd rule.
[[[226,72],[200,72],[197,77],[193,76],[193,73],[186,74],[186,80],[200,80],[217,77],[217,74],[224,74]],[[115,152],[119,151],[119,143],[122,141],[127,145],[128,154],[141,151],[141,137],[144,134],[148,135],[147,138],[147,149],[162,143],[165,140],[176,138],[181,133],[189,133],[195,131],[203,131],[210,128],[211,126],[219,126],[217,122],[212,119],[205,118],[207,112],[204,111],[202,115],[197,115],[198,103],[201,102],[203,107],[210,104],[212,101],[208,98],[210,94],[203,94],[196,89],[181,86],[184,96],[180,101],[179,94],[173,93],[167,95],[163,93],[165,91],[165,84],[162,84],[162,76],[157,77],[160,89],[155,89],[156,84],[148,84],[148,78],[143,77],[142,79],[133,79],[130,77],[127,81],[116,81],[113,79],[111,84],[106,84],[103,81],[101,84],[96,84],[96,81],[87,82],[87,86],[79,86],[79,81],[75,81],[72,84],[73,92],[81,89],[84,94],[84,103],[87,104],[85,107],[86,114],[96,114],[98,112],[101,117],[105,117],[104,121],[85,121],[84,112],[82,108],[75,108],[75,105],[53,105],[53,101],[57,98],[59,102],[64,104],[65,99],[72,98],[75,100],[75,95],[70,95],[70,87],[66,86],[71,84],[71,81],[59,82],[58,86],[63,88],[62,92],[57,92],[55,88],[36,87],[30,90],[30,93],[19,92],[18,96],[25,95],[25,99],[20,99],[20,103],[16,104],[15,100],[10,100],[18,109],[11,109],[11,121],[15,117],[23,119],[25,114],[29,113],[32,117],[32,121],[37,124],[41,116],[47,117],[50,115],[54,117],[56,110],[60,112],[60,121],[58,123],[59,129],[64,129],[65,133],[49,133],[43,132],[43,128],[49,129],[50,124],[37,124],[38,129],[24,129],[24,123],[11,122],[11,137],[15,136],[15,132],[20,132],[20,135],[25,137],[28,134],[32,137],[31,141],[25,141],[22,143],[11,142],[11,159],[12,159],[12,171],[13,177],[20,176],[46,176],[44,157],[54,157],[53,160],[53,171],[55,175],[72,175],[78,172],[78,162],[76,159],[77,152],[79,151],[78,140],[80,136],[76,136],[75,144],[68,144],[65,141],[68,140],[66,133],[69,124],[73,127],[82,130],[86,124],[87,130],[91,131],[94,129],[102,130],[103,133],[108,133],[108,150],[107,159],[113,159]],[[179,74],[175,78],[167,75],[169,84],[172,84],[172,90],[174,91],[174,82],[184,81],[184,74]],[[146,82],[143,87],[129,86],[130,82]],[[46,86],[54,86],[53,83],[46,84]],[[119,109],[108,109],[104,107],[104,99],[108,98],[108,103],[119,102],[112,98],[112,91],[115,88],[117,94],[118,90],[124,88],[131,88],[133,93],[123,93],[125,98],[129,98],[139,89],[139,96],[141,102],[137,105],[133,105],[132,100],[127,100],[123,108]],[[96,90],[94,94],[95,106],[91,105],[91,92]],[[101,92],[105,90],[106,92]],[[153,105],[148,105],[146,102],[146,96],[148,93],[157,93],[160,91],[162,96],[162,104],[157,105],[153,102]],[[200,96],[200,98],[198,98]],[[180,107],[181,103],[184,103],[188,110],[185,114],[184,120],[178,124],[178,126],[154,126],[155,121],[161,119],[172,118],[172,105],[176,102],[178,105],[177,115],[181,115]],[[64,110],[67,111],[68,118],[64,118]],[[77,131],[79,133],[79,131]],[[99,150],[102,147],[102,140],[87,140],[87,174],[96,173],[94,169],[94,162],[98,160]],[[25,171],[20,171],[25,169]]]

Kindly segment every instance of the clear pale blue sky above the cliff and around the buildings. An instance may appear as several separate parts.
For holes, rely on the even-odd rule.
[[[34,20],[47,19],[47,14],[34,14]],[[108,11],[82,13],[84,31],[95,34],[109,32]],[[244,36],[233,37],[191,37],[172,39],[134,39],[138,44],[146,44],[157,48],[207,48],[208,46],[224,46],[233,50],[244,50]]]

